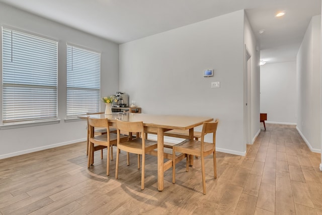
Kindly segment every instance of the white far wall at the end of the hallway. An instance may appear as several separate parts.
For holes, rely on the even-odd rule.
[[[261,66],[261,113],[267,121],[296,124],[296,61]]]

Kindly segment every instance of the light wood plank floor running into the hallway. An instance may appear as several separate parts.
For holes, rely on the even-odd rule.
[[[267,124],[247,156],[217,152],[217,179],[206,160],[207,195],[200,159],[185,172],[171,169],[157,191],[156,158],[147,156],[145,189],[137,157],[121,153],[106,176],[106,152],[87,168],[85,142],[0,160],[1,214],[322,214],[320,154],[311,153],[295,126]],[[115,158],[114,149],[114,158]]]

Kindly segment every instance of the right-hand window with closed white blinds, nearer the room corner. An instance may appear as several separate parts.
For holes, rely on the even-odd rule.
[[[67,118],[100,111],[101,54],[67,45]]]

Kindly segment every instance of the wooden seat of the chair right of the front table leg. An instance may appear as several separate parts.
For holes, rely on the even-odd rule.
[[[203,143],[203,152],[204,154],[207,154],[207,152],[212,153],[213,152],[213,144],[210,144],[209,142]],[[180,144],[174,145],[176,152],[181,152],[189,155],[195,155],[195,156],[201,156],[201,142],[198,140],[190,140],[186,139],[182,141]]]

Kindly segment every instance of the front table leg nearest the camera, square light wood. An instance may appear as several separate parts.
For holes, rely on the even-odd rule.
[[[164,130],[157,128],[157,189],[164,188]]]

